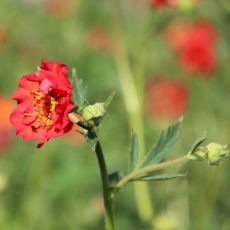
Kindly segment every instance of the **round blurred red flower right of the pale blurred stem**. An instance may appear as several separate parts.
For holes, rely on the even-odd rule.
[[[153,117],[178,118],[188,107],[188,92],[175,79],[156,77],[147,81],[146,109]]]

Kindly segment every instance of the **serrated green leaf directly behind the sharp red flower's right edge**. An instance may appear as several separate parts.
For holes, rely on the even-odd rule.
[[[77,105],[84,105],[87,102],[86,87],[83,86],[82,80],[78,79],[76,69],[72,70],[72,77],[70,79],[73,85],[73,97]]]

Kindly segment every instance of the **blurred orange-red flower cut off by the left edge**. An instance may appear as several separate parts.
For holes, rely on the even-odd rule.
[[[13,110],[11,100],[6,96],[0,96],[0,150],[4,150],[11,141],[10,114]]]

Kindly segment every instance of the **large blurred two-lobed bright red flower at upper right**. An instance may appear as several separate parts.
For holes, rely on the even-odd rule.
[[[189,73],[210,74],[216,68],[215,44],[217,31],[205,20],[180,20],[165,33],[169,46],[179,56],[183,69]]]

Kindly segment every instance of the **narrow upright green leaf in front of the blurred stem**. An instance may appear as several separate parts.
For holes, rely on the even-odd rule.
[[[130,144],[129,167],[128,172],[132,172],[137,167],[139,159],[139,142],[136,132],[133,130]]]

